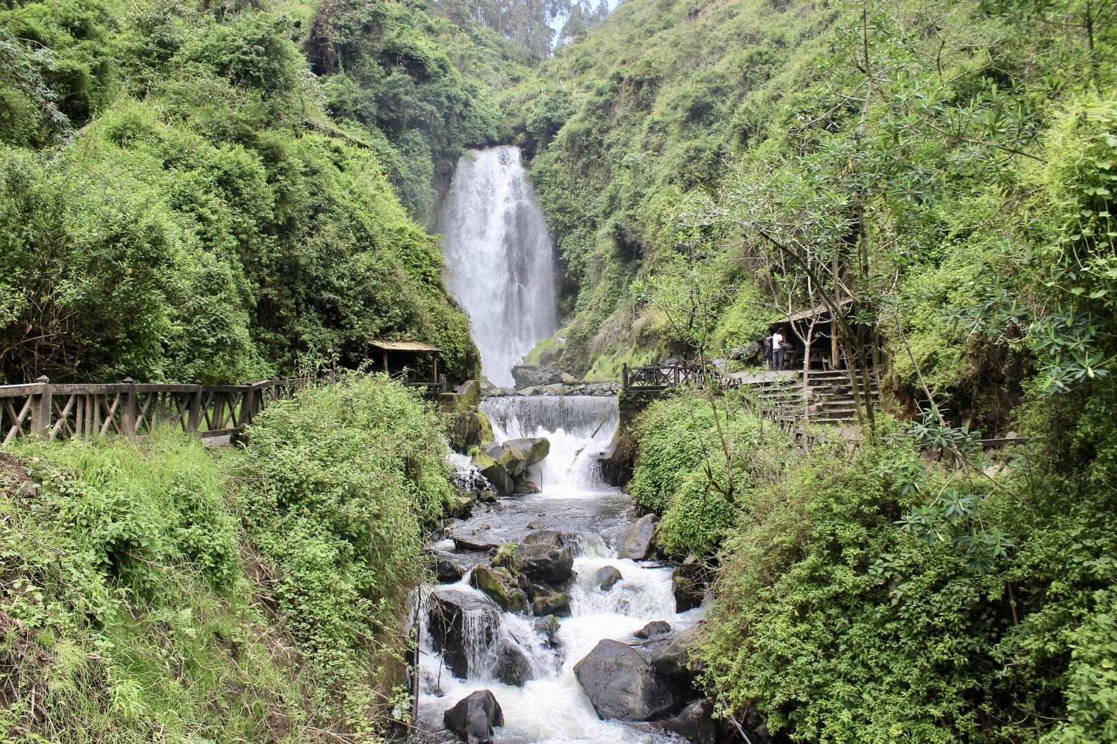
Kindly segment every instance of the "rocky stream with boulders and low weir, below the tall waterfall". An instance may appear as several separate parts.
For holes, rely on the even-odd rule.
[[[429,547],[420,595],[423,741],[601,743],[725,738],[691,689],[701,597],[657,557],[652,515],[600,477],[617,402],[487,398],[497,443],[550,443],[538,487],[478,500]],[[459,479],[481,480],[466,457]],[[458,707],[456,707],[458,706]],[[455,734],[451,729],[457,729]]]

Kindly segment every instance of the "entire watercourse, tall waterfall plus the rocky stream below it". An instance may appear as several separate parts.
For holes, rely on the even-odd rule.
[[[447,284],[485,375],[510,385],[512,367],[555,327],[552,241],[517,148],[462,156],[445,231]],[[677,600],[653,518],[602,479],[615,395],[496,392],[478,406],[490,460],[452,456],[456,481],[483,497],[436,535],[428,550],[441,583],[417,595],[419,728],[462,726],[469,741],[488,741],[495,723],[493,741],[524,744],[682,741],[670,727],[695,733],[696,717],[670,718],[696,695],[680,640],[703,609],[690,595]],[[509,446],[546,454],[503,489],[478,465]]]

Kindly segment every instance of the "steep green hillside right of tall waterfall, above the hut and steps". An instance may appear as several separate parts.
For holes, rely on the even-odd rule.
[[[973,279],[962,267],[1004,277],[1014,251],[1050,244],[1032,226],[1040,212],[1066,219],[1050,211],[1068,199],[1060,170],[1077,167],[1067,129],[1106,108],[1113,85],[1108,12],[623,3],[502,104],[535,153],[566,270],[565,346],[537,354],[603,377],[665,347],[716,356],[833,293],[824,271],[808,288],[799,259],[849,257],[859,271],[839,271],[840,293],[905,325],[933,387],[987,379],[999,363],[984,341],[1016,310],[984,337],[936,313],[961,319],[1004,289],[960,287]],[[693,315],[680,282],[701,288],[703,338],[675,328]]]

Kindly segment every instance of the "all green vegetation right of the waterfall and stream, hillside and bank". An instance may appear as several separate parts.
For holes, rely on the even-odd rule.
[[[629,2],[505,98],[567,268],[536,356],[717,356],[823,302],[849,358],[884,351],[856,450],[750,437],[716,392],[637,427],[633,495],[716,568],[723,709],[794,741],[1117,737],[1113,13]],[[1030,443],[992,463],[978,429]]]

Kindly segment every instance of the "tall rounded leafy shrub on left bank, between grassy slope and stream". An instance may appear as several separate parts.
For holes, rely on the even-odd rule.
[[[279,616],[321,676],[318,704],[355,731],[399,673],[423,526],[449,503],[440,429],[413,393],[352,375],[268,406],[230,463],[248,539],[278,571]]]

